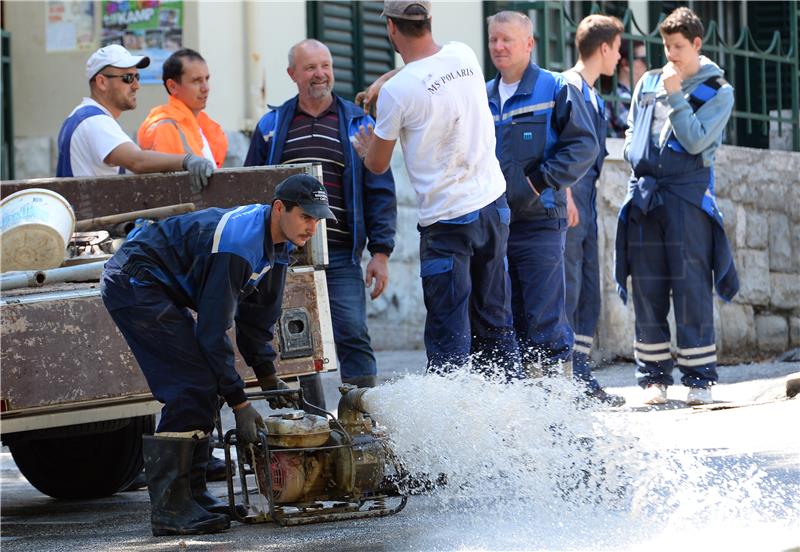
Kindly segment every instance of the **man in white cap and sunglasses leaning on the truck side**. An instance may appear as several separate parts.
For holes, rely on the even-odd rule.
[[[90,97],[72,110],[58,134],[56,176],[104,176],[187,170],[192,191],[208,183],[214,164],[194,154],[164,154],[140,149],[117,119],[136,108],[138,69],[150,58],[134,56],[118,44],[104,46],[86,62]]]

